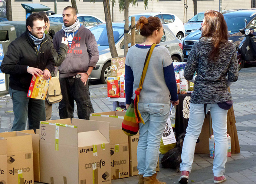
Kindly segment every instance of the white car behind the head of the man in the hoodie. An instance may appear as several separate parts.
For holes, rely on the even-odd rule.
[[[93,15],[87,15],[87,14],[77,14],[77,18],[80,21],[83,26],[85,26],[87,29],[96,26],[98,24],[105,23],[104,20],[99,19],[96,16]],[[49,20],[52,22],[59,22],[63,23],[62,14],[54,14],[49,16]]]

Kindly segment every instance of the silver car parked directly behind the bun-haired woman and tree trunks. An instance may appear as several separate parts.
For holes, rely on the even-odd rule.
[[[124,56],[124,22],[112,23],[115,46],[119,57]],[[164,35],[159,45],[168,48],[173,61],[183,61],[182,44],[174,36],[172,31],[166,26],[164,27]],[[99,61],[96,68],[92,70],[91,77],[94,80],[100,80],[106,83],[106,79],[111,75],[111,53],[109,50],[108,36],[106,32],[106,24],[100,24],[90,29],[95,36],[99,50]],[[140,35],[139,31],[135,31],[136,44],[143,43],[145,38]],[[131,47],[131,26],[129,26],[128,43]]]

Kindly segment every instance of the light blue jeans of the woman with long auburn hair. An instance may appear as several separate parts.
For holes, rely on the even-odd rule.
[[[215,141],[213,160],[213,174],[220,177],[224,174],[227,162],[227,111],[218,104],[207,104],[206,111],[210,109],[212,128]],[[204,104],[190,103],[190,115],[186,136],[183,143],[180,164],[181,171],[191,171],[194,160],[196,141],[201,133],[204,122]]]

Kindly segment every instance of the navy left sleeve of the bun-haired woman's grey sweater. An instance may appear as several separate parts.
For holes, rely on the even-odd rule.
[[[124,80],[125,80],[125,103],[131,104],[134,77],[133,77],[132,68],[130,66],[127,66],[126,64],[125,64]]]

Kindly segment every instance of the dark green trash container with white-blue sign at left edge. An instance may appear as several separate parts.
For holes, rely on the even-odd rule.
[[[0,24],[0,65],[9,44],[16,39],[15,27],[10,24]],[[0,95],[8,94],[9,75],[0,70]]]

